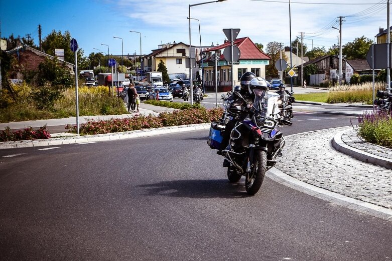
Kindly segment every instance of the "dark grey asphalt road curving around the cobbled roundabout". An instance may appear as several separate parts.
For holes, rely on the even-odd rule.
[[[309,112],[294,120],[286,135],[350,124]],[[207,136],[0,150],[1,259],[392,258],[392,222],[269,178],[248,196]]]

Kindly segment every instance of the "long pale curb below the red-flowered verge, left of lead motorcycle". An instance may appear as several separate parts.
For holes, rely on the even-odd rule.
[[[143,129],[143,130],[127,131],[127,132],[114,132],[108,134],[85,135],[85,136],[76,136],[76,137],[58,137],[58,138],[40,139],[40,140],[5,141],[5,142],[0,142],[0,149],[58,146],[58,145],[65,145],[65,144],[142,138],[142,137],[156,136],[161,134],[205,130],[205,129],[209,129],[210,126],[211,123],[201,123],[201,124]]]

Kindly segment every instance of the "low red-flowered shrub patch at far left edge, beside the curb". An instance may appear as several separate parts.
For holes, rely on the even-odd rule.
[[[23,130],[11,131],[10,127],[6,127],[0,133],[0,141],[16,141],[16,140],[36,140],[36,139],[49,139],[50,134],[46,130],[46,125],[34,130],[32,127]]]

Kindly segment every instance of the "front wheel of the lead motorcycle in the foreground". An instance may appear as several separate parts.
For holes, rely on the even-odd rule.
[[[257,150],[253,155],[253,163],[245,177],[245,189],[249,195],[254,195],[263,184],[267,171],[267,152]]]

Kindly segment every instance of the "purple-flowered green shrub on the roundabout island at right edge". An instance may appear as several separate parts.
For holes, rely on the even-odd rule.
[[[392,148],[392,117],[390,113],[378,111],[358,117],[358,134],[365,141]]]

